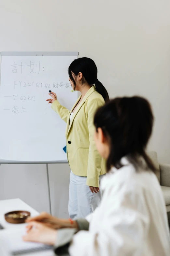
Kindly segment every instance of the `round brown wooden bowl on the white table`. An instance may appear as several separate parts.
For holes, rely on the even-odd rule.
[[[9,216],[9,214],[23,214],[25,215],[24,217],[22,218],[14,218],[12,216]],[[24,223],[25,220],[31,215],[30,212],[27,212],[27,211],[13,211],[13,212],[9,212],[9,213],[5,213],[5,220],[8,222],[8,223],[12,223],[12,224],[18,224],[18,223]]]

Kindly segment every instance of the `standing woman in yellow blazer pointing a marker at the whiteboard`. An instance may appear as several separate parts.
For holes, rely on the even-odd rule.
[[[97,79],[93,60],[86,57],[74,60],[68,74],[72,88],[81,93],[71,111],[60,105],[53,92],[52,99],[47,101],[67,123],[67,159],[71,168],[68,211],[70,218],[75,219],[92,213],[101,200],[99,184],[106,170],[93,140],[93,117],[109,97]]]

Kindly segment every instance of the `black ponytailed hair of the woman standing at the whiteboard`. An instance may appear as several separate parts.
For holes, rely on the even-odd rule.
[[[107,102],[109,100],[109,96],[106,88],[97,79],[97,67],[94,61],[87,57],[78,58],[72,61],[68,68],[68,75],[74,83],[74,90],[76,89],[76,81],[73,78],[72,73],[77,76],[79,72],[83,74],[82,84],[85,82],[90,85],[95,84],[97,92],[100,93],[103,96],[105,102]]]

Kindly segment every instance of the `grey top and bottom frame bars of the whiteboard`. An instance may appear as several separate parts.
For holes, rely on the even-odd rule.
[[[78,56],[79,52],[0,52],[0,56]],[[1,76],[1,63],[0,61],[0,76]],[[38,163],[68,163],[67,160],[57,160],[57,161],[13,161],[0,159],[0,164],[38,164]]]

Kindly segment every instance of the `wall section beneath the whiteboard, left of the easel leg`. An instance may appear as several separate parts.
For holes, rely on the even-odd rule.
[[[0,200],[11,198],[20,198],[37,211],[49,212],[46,164],[2,164]],[[16,205],[13,210],[20,209]]]

